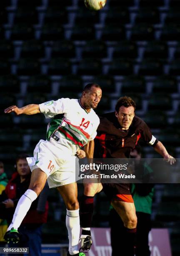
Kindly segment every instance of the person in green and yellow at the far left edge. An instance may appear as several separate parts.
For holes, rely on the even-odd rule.
[[[4,171],[4,164],[2,161],[0,161],[0,195],[2,194],[2,191],[5,190],[5,187],[7,185],[8,179],[7,175]],[[0,219],[0,246],[4,245],[4,234],[7,230],[7,221],[5,219]]]

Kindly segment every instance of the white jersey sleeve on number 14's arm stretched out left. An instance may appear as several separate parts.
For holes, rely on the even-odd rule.
[[[57,114],[66,113],[69,106],[70,106],[69,98],[50,100],[42,104],[39,104],[40,112],[45,115],[45,118],[52,118]]]

